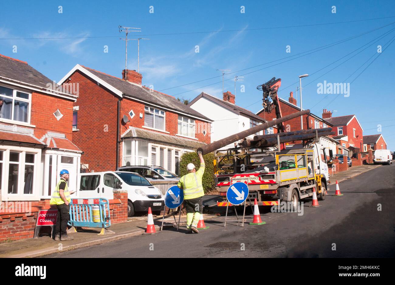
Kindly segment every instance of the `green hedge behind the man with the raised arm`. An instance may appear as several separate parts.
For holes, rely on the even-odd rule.
[[[203,174],[203,190],[204,192],[210,191],[214,189],[215,179],[214,179],[214,153],[207,153],[207,155],[203,155],[203,159],[205,162],[205,170]],[[186,170],[186,166],[188,163],[193,163],[196,166],[196,170],[199,169],[200,160],[196,152],[192,153],[184,153],[180,159],[180,176],[184,176],[188,173]]]

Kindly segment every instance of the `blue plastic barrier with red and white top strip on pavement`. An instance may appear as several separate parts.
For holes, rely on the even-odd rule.
[[[93,221],[92,206],[99,206],[100,222]],[[108,228],[111,226],[110,205],[105,198],[71,199],[69,226]]]

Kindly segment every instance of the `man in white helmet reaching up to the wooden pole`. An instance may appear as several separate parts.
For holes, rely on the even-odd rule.
[[[203,185],[201,179],[204,173],[204,159],[201,151],[198,151],[200,168],[196,171],[193,163],[186,166],[188,174],[180,178],[177,186],[184,192],[184,205],[186,208],[186,228],[198,233],[200,215],[203,213]]]

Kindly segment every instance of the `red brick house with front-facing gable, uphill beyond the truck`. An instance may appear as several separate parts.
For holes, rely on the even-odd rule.
[[[343,147],[352,148],[354,153],[363,151],[363,129],[355,115],[332,117],[332,113],[324,109],[322,117],[333,125],[333,131],[337,133],[333,138]]]

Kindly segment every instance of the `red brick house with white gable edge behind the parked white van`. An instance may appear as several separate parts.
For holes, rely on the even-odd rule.
[[[158,165],[178,174],[182,153],[210,143],[211,120],[126,71],[119,78],[77,64],[59,83],[79,83],[73,143],[81,164],[95,172]]]

